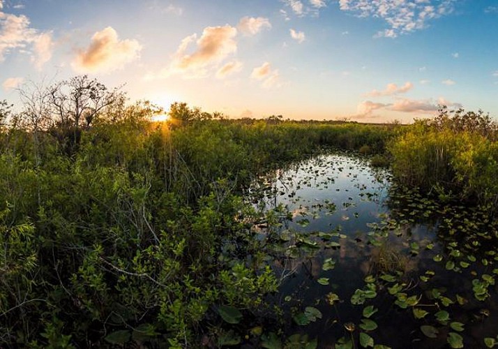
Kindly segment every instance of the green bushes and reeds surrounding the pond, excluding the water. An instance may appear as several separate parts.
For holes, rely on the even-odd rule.
[[[162,112],[86,76],[25,89],[18,113],[0,102],[1,346],[217,348],[246,335],[282,348],[258,325],[278,317],[266,297],[280,279],[252,232],[271,217],[244,194],[323,147],[496,221],[498,128],[481,111],[374,125],[174,103],[168,121],[151,121]]]

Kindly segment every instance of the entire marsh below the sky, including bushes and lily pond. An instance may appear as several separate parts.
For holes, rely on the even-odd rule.
[[[0,103],[0,343],[498,346],[498,131],[227,119],[88,77]]]

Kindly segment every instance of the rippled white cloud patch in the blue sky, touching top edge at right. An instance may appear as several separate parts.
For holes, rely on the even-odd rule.
[[[339,0],[341,10],[357,17],[379,17],[388,28],[376,37],[395,38],[428,26],[435,20],[453,12],[455,0]]]

